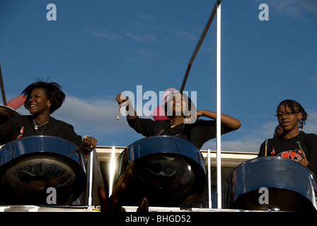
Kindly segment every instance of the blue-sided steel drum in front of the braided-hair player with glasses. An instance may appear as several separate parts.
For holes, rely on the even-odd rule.
[[[285,211],[317,208],[316,177],[304,165],[284,157],[247,160],[231,172],[228,184],[229,208]],[[267,191],[260,190],[262,187]]]

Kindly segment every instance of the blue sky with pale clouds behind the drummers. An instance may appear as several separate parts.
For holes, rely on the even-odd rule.
[[[47,4],[57,7],[48,21]],[[52,117],[98,145],[126,146],[143,136],[117,121],[115,97],[125,90],[159,95],[178,88],[215,1],[0,1],[0,64],[10,100],[36,78],[62,85],[64,105]],[[269,20],[260,21],[260,4]],[[258,152],[277,125],[275,109],[297,100],[317,133],[317,2],[223,0],[221,112],[241,129],[221,136],[222,150]],[[216,109],[216,19],[185,86],[197,109]],[[146,100],[144,100],[146,103]],[[21,107],[23,114],[28,112]],[[209,141],[203,149],[215,148]]]

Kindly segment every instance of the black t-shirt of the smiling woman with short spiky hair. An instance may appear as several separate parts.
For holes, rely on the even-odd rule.
[[[50,121],[46,125],[39,126],[38,131],[35,130],[34,126],[33,116],[31,115],[16,116],[9,119],[0,126],[0,144],[25,136],[40,135],[39,133],[42,132],[41,135],[59,136],[77,146],[81,145],[81,136],[75,133],[73,126],[64,121],[50,117]],[[42,129],[44,130],[42,131]]]

